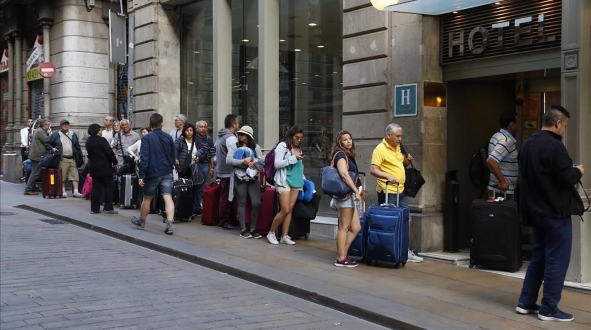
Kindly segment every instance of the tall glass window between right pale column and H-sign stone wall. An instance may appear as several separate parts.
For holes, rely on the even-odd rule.
[[[304,170],[316,187],[342,129],[342,12],[339,0],[280,2],[280,135],[303,127]],[[332,213],[329,202],[320,214]]]

